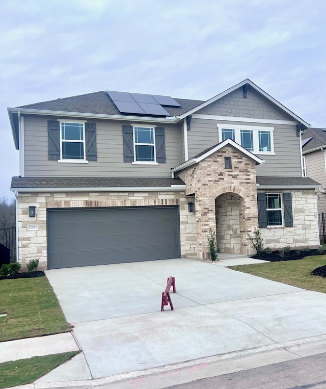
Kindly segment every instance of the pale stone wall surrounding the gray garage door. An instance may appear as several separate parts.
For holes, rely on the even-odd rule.
[[[179,205],[181,255],[194,255],[197,248],[195,215],[188,212],[184,192],[69,192],[19,193],[18,196],[18,262],[39,258],[40,268],[46,269],[46,210],[48,208],[93,208],[110,206]],[[29,206],[36,206],[36,216],[29,217]],[[28,230],[37,225],[38,230]]]

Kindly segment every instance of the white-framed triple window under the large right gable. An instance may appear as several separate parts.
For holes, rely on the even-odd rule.
[[[230,138],[254,154],[274,154],[274,127],[218,124],[220,142]]]

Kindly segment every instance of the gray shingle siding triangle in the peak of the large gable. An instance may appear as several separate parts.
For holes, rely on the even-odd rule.
[[[222,97],[218,101],[196,112],[196,114],[236,116],[255,119],[293,120],[286,116],[278,107],[252,89],[243,98],[242,88]]]

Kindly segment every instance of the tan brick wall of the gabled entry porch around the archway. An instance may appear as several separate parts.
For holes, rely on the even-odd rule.
[[[224,157],[232,158],[232,169],[225,169]],[[255,162],[232,146],[225,146],[178,172],[178,176],[186,184],[185,194],[195,194],[198,257],[209,258],[207,235],[209,228],[216,230],[215,198],[224,193],[243,198],[240,250],[243,254],[253,253],[247,232],[251,233],[258,225]]]

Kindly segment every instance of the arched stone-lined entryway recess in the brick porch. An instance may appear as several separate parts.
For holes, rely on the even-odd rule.
[[[221,252],[244,253],[244,210],[244,199],[236,193],[223,193],[215,198],[216,243]]]

